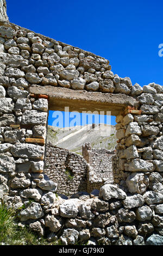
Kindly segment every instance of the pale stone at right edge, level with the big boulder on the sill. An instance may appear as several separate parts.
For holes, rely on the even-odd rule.
[[[143,194],[143,198],[147,204],[160,204],[163,202],[163,194],[154,191],[147,191]]]

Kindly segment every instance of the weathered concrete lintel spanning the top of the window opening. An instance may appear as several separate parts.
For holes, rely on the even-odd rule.
[[[55,111],[65,111],[65,107],[69,107],[71,112],[110,111],[111,115],[118,115],[126,106],[138,105],[133,97],[126,94],[87,92],[54,86],[32,86],[30,93],[48,95],[49,110]]]

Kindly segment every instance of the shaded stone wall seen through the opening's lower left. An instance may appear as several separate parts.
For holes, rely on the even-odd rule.
[[[58,193],[71,196],[86,191],[87,163],[76,153],[47,144],[44,172],[57,182]]]

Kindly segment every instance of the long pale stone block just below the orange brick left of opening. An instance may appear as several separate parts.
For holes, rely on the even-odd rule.
[[[11,153],[15,157],[29,157],[40,159],[44,154],[44,147],[35,144],[17,143],[11,148]]]

